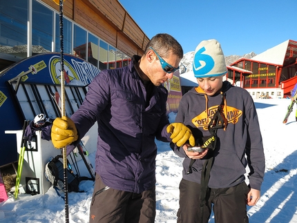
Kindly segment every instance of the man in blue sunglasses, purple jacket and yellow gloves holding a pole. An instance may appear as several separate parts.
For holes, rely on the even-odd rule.
[[[182,57],[171,35],[155,35],[129,66],[100,72],[71,119],[53,122],[55,148],[70,144],[71,149],[98,124],[90,222],[155,222],[155,138],[194,144],[189,128],[169,125],[166,116],[168,92],[162,84],[173,77]]]

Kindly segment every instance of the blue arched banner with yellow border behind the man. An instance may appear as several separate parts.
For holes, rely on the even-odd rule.
[[[64,54],[65,84],[69,86],[87,86],[100,70],[79,57]],[[8,82],[17,86],[17,82],[28,84],[57,85],[61,80],[59,52],[48,52],[23,59],[0,72],[0,166],[17,160],[16,136],[6,134],[6,130],[21,130],[23,120],[16,104],[28,103],[16,99],[16,93],[8,88]],[[16,90],[16,89],[15,89]],[[24,113],[24,111],[23,111]]]

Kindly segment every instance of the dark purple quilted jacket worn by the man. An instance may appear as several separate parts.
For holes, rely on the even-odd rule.
[[[88,86],[84,103],[72,115],[79,139],[97,121],[96,173],[104,184],[141,193],[155,186],[155,137],[171,142],[166,133],[168,92],[153,86],[146,107],[146,90],[133,64],[103,70]]]

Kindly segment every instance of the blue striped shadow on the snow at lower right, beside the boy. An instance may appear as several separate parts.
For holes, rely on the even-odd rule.
[[[250,222],[290,222],[296,214],[297,151],[265,173],[258,204],[248,207]]]

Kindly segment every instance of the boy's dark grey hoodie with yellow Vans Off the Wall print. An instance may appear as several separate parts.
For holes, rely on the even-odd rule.
[[[228,81],[224,81],[222,92],[225,93],[225,99],[221,110],[227,119],[227,127],[217,131],[209,187],[227,188],[240,184],[245,181],[248,165],[249,184],[251,188],[260,190],[265,173],[265,156],[253,99],[247,90],[231,86]],[[182,97],[175,122],[182,122],[191,128],[195,139],[209,136],[207,126],[221,102],[220,93],[207,96],[199,86],[193,88]],[[192,166],[192,173],[186,174],[191,159],[182,148],[175,146],[174,152],[185,157],[184,179],[200,183],[202,166],[207,156],[197,159]]]

